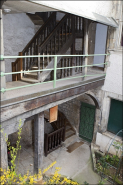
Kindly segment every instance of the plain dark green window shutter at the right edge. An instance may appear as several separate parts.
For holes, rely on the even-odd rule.
[[[121,129],[123,129],[123,102],[111,99],[107,130],[117,134]]]

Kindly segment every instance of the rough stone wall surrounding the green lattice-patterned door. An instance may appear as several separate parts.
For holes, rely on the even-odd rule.
[[[100,105],[102,105],[102,94],[103,91],[101,87],[92,90],[90,93],[94,94],[96,98],[99,100]],[[80,125],[80,108],[81,102],[85,102],[91,105],[95,105],[93,100],[86,94],[80,95],[75,99],[67,101],[63,104],[59,105],[59,110],[64,113],[67,117],[71,125],[76,130],[76,134],[79,134],[79,125]],[[100,110],[96,109],[96,117],[95,117],[95,126],[94,126],[94,136],[93,140],[96,139],[96,133],[98,131],[98,124],[100,123]]]

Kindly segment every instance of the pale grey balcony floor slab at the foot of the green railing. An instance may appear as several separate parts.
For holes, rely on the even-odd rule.
[[[89,72],[88,74],[94,75],[94,73],[92,73],[92,72],[91,73]],[[80,74],[76,75],[76,76],[80,76]],[[68,88],[74,88],[78,85],[80,86],[80,85],[84,85],[87,83],[89,83],[91,85],[92,82],[101,81],[102,79],[105,79],[104,74],[100,74],[98,76],[88,76],[83,81],[82,81],[81,77],[60,80],[60,81],[56,82],[56,88],[53,88],[53,82],[42,83],[39,85],[34,85],[34,86],[26,87],[26,88],[23,87],[20,89],[6,91],[6,99],[17,98],[20,96],[24,96],[25,98],[37,97],[37,96],[45,95],[47,93],[52,93],[52,92],[56,92],[56,91],[60,91],[60,90],[63,91]],[[13,88],[13,87],[25,86],[25,85],[30,85],[30,83],[22,82],[22,81],[7,82],[6,89]],[[91,90],[91,88],[90,88],[90,90]]]

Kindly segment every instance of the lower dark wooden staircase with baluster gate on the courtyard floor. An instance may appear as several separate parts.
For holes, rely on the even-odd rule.
[[[44,111],[44,118],[49,121],[49,112]],[[62,143],[69,137],[76,134],[74,128],[64,116],[64,114],[58,111],[58,119],[55,122],[50,123],[54,129],[53,132],[47,134],[44,137],[44,153],[47,156],[50,152],[56,150]]]

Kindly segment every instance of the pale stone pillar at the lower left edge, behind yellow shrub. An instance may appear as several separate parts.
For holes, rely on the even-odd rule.
[[[8,138],[8,136],[6,136]],[[7,143],[5,137],[0,133],[0,167],[2,169],[8,169],[8,155],[7,155]]]

